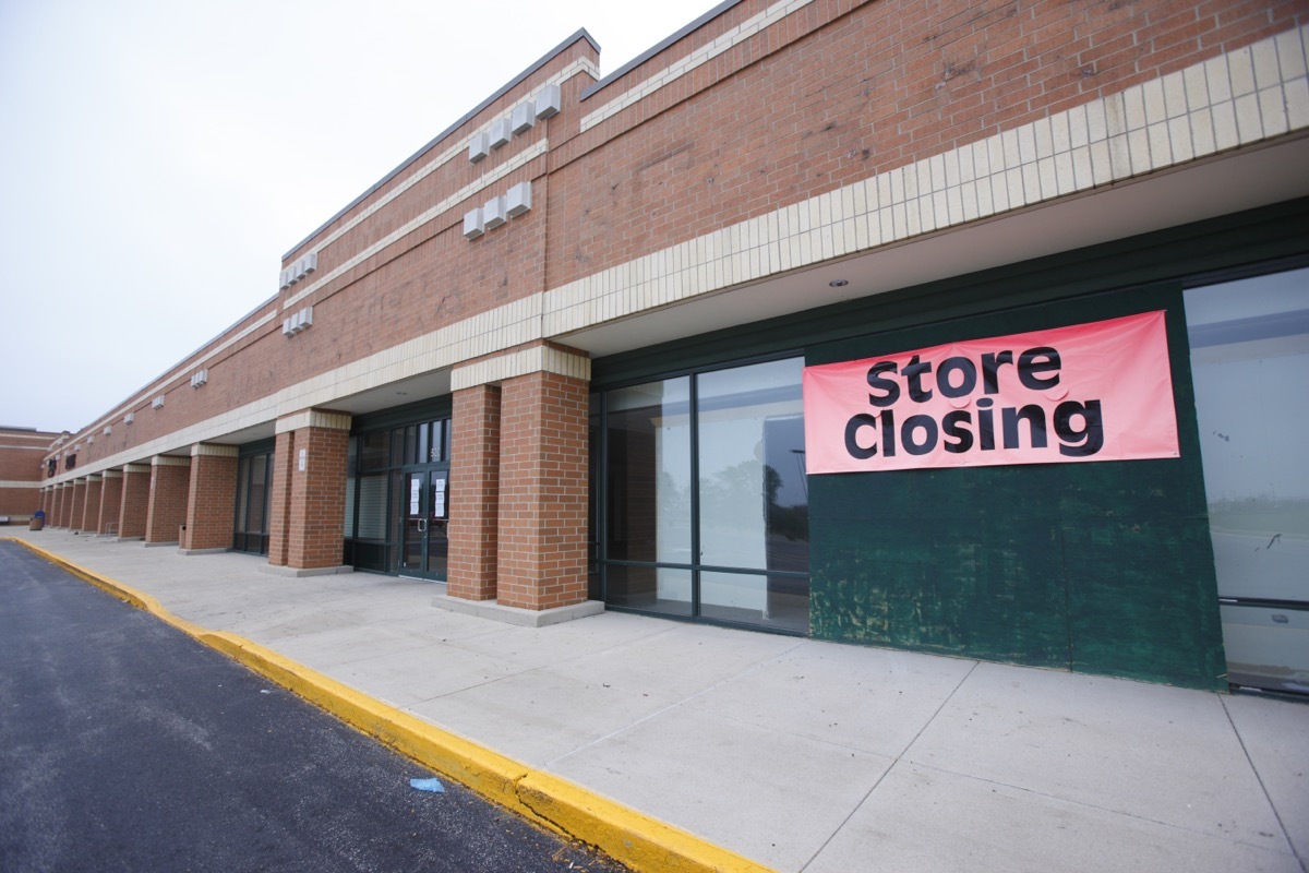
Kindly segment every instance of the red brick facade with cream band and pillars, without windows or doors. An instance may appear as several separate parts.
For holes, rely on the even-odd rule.
[[[326,569],[352,421],[448,399],[449,593],[576,603],[592,359],[1305,196],[1306,27],[1295,1],[741,0],[603,80],[581,31],[29,472],[54,463],[60,526],[221,548],[236,446],[275,438],[268,563]],[[465,233],[511,191],[530,208]]]

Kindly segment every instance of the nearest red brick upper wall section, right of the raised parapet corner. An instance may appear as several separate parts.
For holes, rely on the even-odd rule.
[[[548,250],[550,285],[1309,21],[1304,0],[880,0],[843,14],[850,5],[817,0],[563,148],[550,208],[564,245]],[[703,41],[685,38],[584,111]]]

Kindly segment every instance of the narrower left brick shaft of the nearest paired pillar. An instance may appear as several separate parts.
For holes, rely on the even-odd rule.
[[[496,597],[500,517],[500,389],[454,393],[450,423],[450,561],[446,593],[470,601]]]

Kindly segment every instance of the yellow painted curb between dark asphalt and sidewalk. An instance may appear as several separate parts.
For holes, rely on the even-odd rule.
[[[26,539],[16,537],[0,539],[21,543],[79,579],[223,652],[424,767],[467,785],[528,821],[594,846],[634,870],[774,873],[771,868],[707,843],[678,827],[617,804],[559,776],[533,770],[374,700],[258,643],[226,631],[209,631],[181,619],[165,610],[154,597],[65,560]]]

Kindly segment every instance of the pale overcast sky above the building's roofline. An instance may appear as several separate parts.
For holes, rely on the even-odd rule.
[[[0,0],[0,425],[145,387],[577,29],[607,75],[715,5]]]

